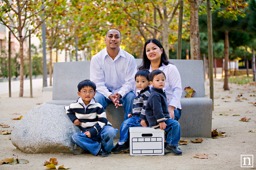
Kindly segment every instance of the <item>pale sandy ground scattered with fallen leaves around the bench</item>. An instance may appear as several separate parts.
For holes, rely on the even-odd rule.
[[[206,81],[206,96],[209,97],[209,82]],[[111,154],[108,157],[94,157],[91,154],[72,155],[66,153],[44,153],[26,154],[19,151],[12,145],[11,140],[5,140],[10,135],[0,135],[0,159],[19,156],[20,159],[27,159],[28,164],[0,165],[0,169],[16,170],[43,170],[45,160],[57,158],[58,165],[64,164],[70,169],[243,169],[241,168],[241,155],[254,155],[253,168],[256,169],[256,85],[229,84],[230,90],[223,90],[223,82],[214,80],[214,111],[212,129],[226,132],[226,138],[204,139],[202,143],[180,145],[183,156],[174,156],[172,153],[165,153],[165,156],[130,156],[129,153]],[[30,91],[25,90],[24,96],[30,96]],[[241,95],[240,101],[237,96]],[[0,94],[0,123],[10,126],[1,130],[11,130],[19,120],[10,118],[24,115],[36,103],[43,102],[42,88],[33,89],[33,98],[18,97],[14,92],[9,98],[8,94]],[[242,99],[244,98],[244,99]],[[215,115],[225,113],[228,115]],[[230,116],[240,114],[240,116]],[[249,122],[239,121],[240,118],[251,118]],[[181,138],[182,140],[195,138]],[[117,143],[117,141],[115,141]],[[194,158],[195,154],[216,154],[209,155],[209,159]],[[251,160],[252,161],[252,160]]]

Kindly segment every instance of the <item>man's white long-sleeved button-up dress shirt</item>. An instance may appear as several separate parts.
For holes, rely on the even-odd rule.
[[[135,58],[123,49],[119,49],[114,60],[108,55],[106,48],[91,59],[90,80],[96,84],[97,92],[107,99],[115,93],[119,93],[123,98],[135,90],[136,73]]]

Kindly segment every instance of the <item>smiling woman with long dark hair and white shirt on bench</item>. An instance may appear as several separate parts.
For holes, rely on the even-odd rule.
[[[165,50],[158,40],[150,39],[145,43],[143,61],[138,69],[148,69],[149,72],[159,69],[165,73],[168,112],[171,119],[178,121],[181,115],[180,97],[182,94],[180,75],[176,66],[168,61]]]

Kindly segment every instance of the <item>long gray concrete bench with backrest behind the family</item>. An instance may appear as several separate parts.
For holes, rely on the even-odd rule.
[[[202,60],[169,60],[180,73],[183,94],[180,99],[182,112],[179,120],[181,137],[211,137],[212,100],[205,97],[204,73]],[[142,59],[136,59],[140,65]],[[77,84],[90,79],[90,61],[54,63],[53,66],[53,100],[47,103],[70,105],[76,102]],[[192,98],[185,98],[185,87],[196,91]],[[115,108],[111,103],[106,108],[107,119],[114,128],[120,130],[124,120],[124,109]],[[119,138],[119,132],[117,134]]]

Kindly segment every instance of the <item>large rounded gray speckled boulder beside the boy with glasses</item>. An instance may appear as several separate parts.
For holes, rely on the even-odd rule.
[[[41,104],[14,125],[11,141],[25,153],[82,154],[84,150],[72,142],[76,132],[81,130],[71,122],[64,106]]]

